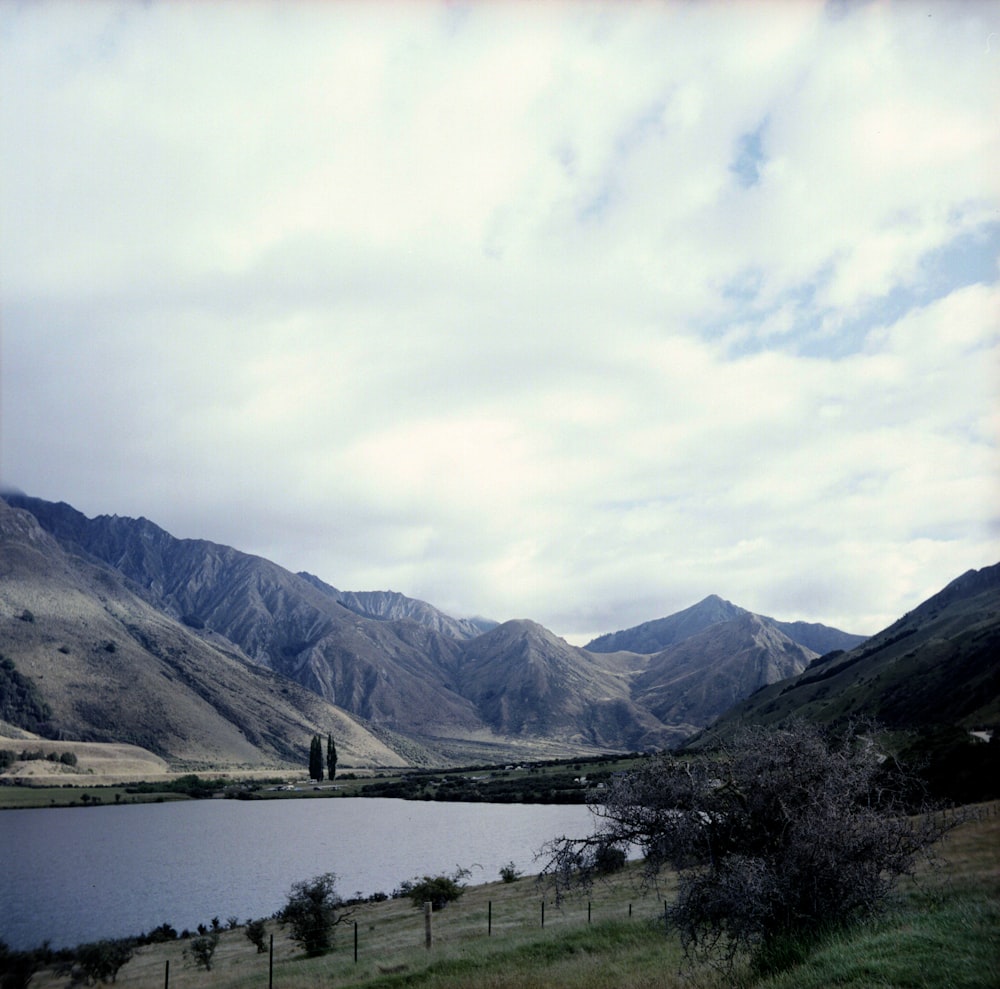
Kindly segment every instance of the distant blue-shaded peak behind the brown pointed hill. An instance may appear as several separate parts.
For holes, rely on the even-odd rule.
[[[585,648],[590,652],[625,650],[647,654],[656,653],[678,642],[683,642],[684,639],[712,625],[732,621],[734,618],[749,614],[751,612],[745,608],[726,601],[716,594],[710,594],[703,601],[666,618],[657,618],[633,628],[598,636]],[[779,622],[774,618],[765,618],[764,620],[780,629],[793,642],[819,654],[834,649],[851,649],[863,642],[865,638],[863,635],[853,635],[850,632],[842,632],[840,629],[818,623]]]

